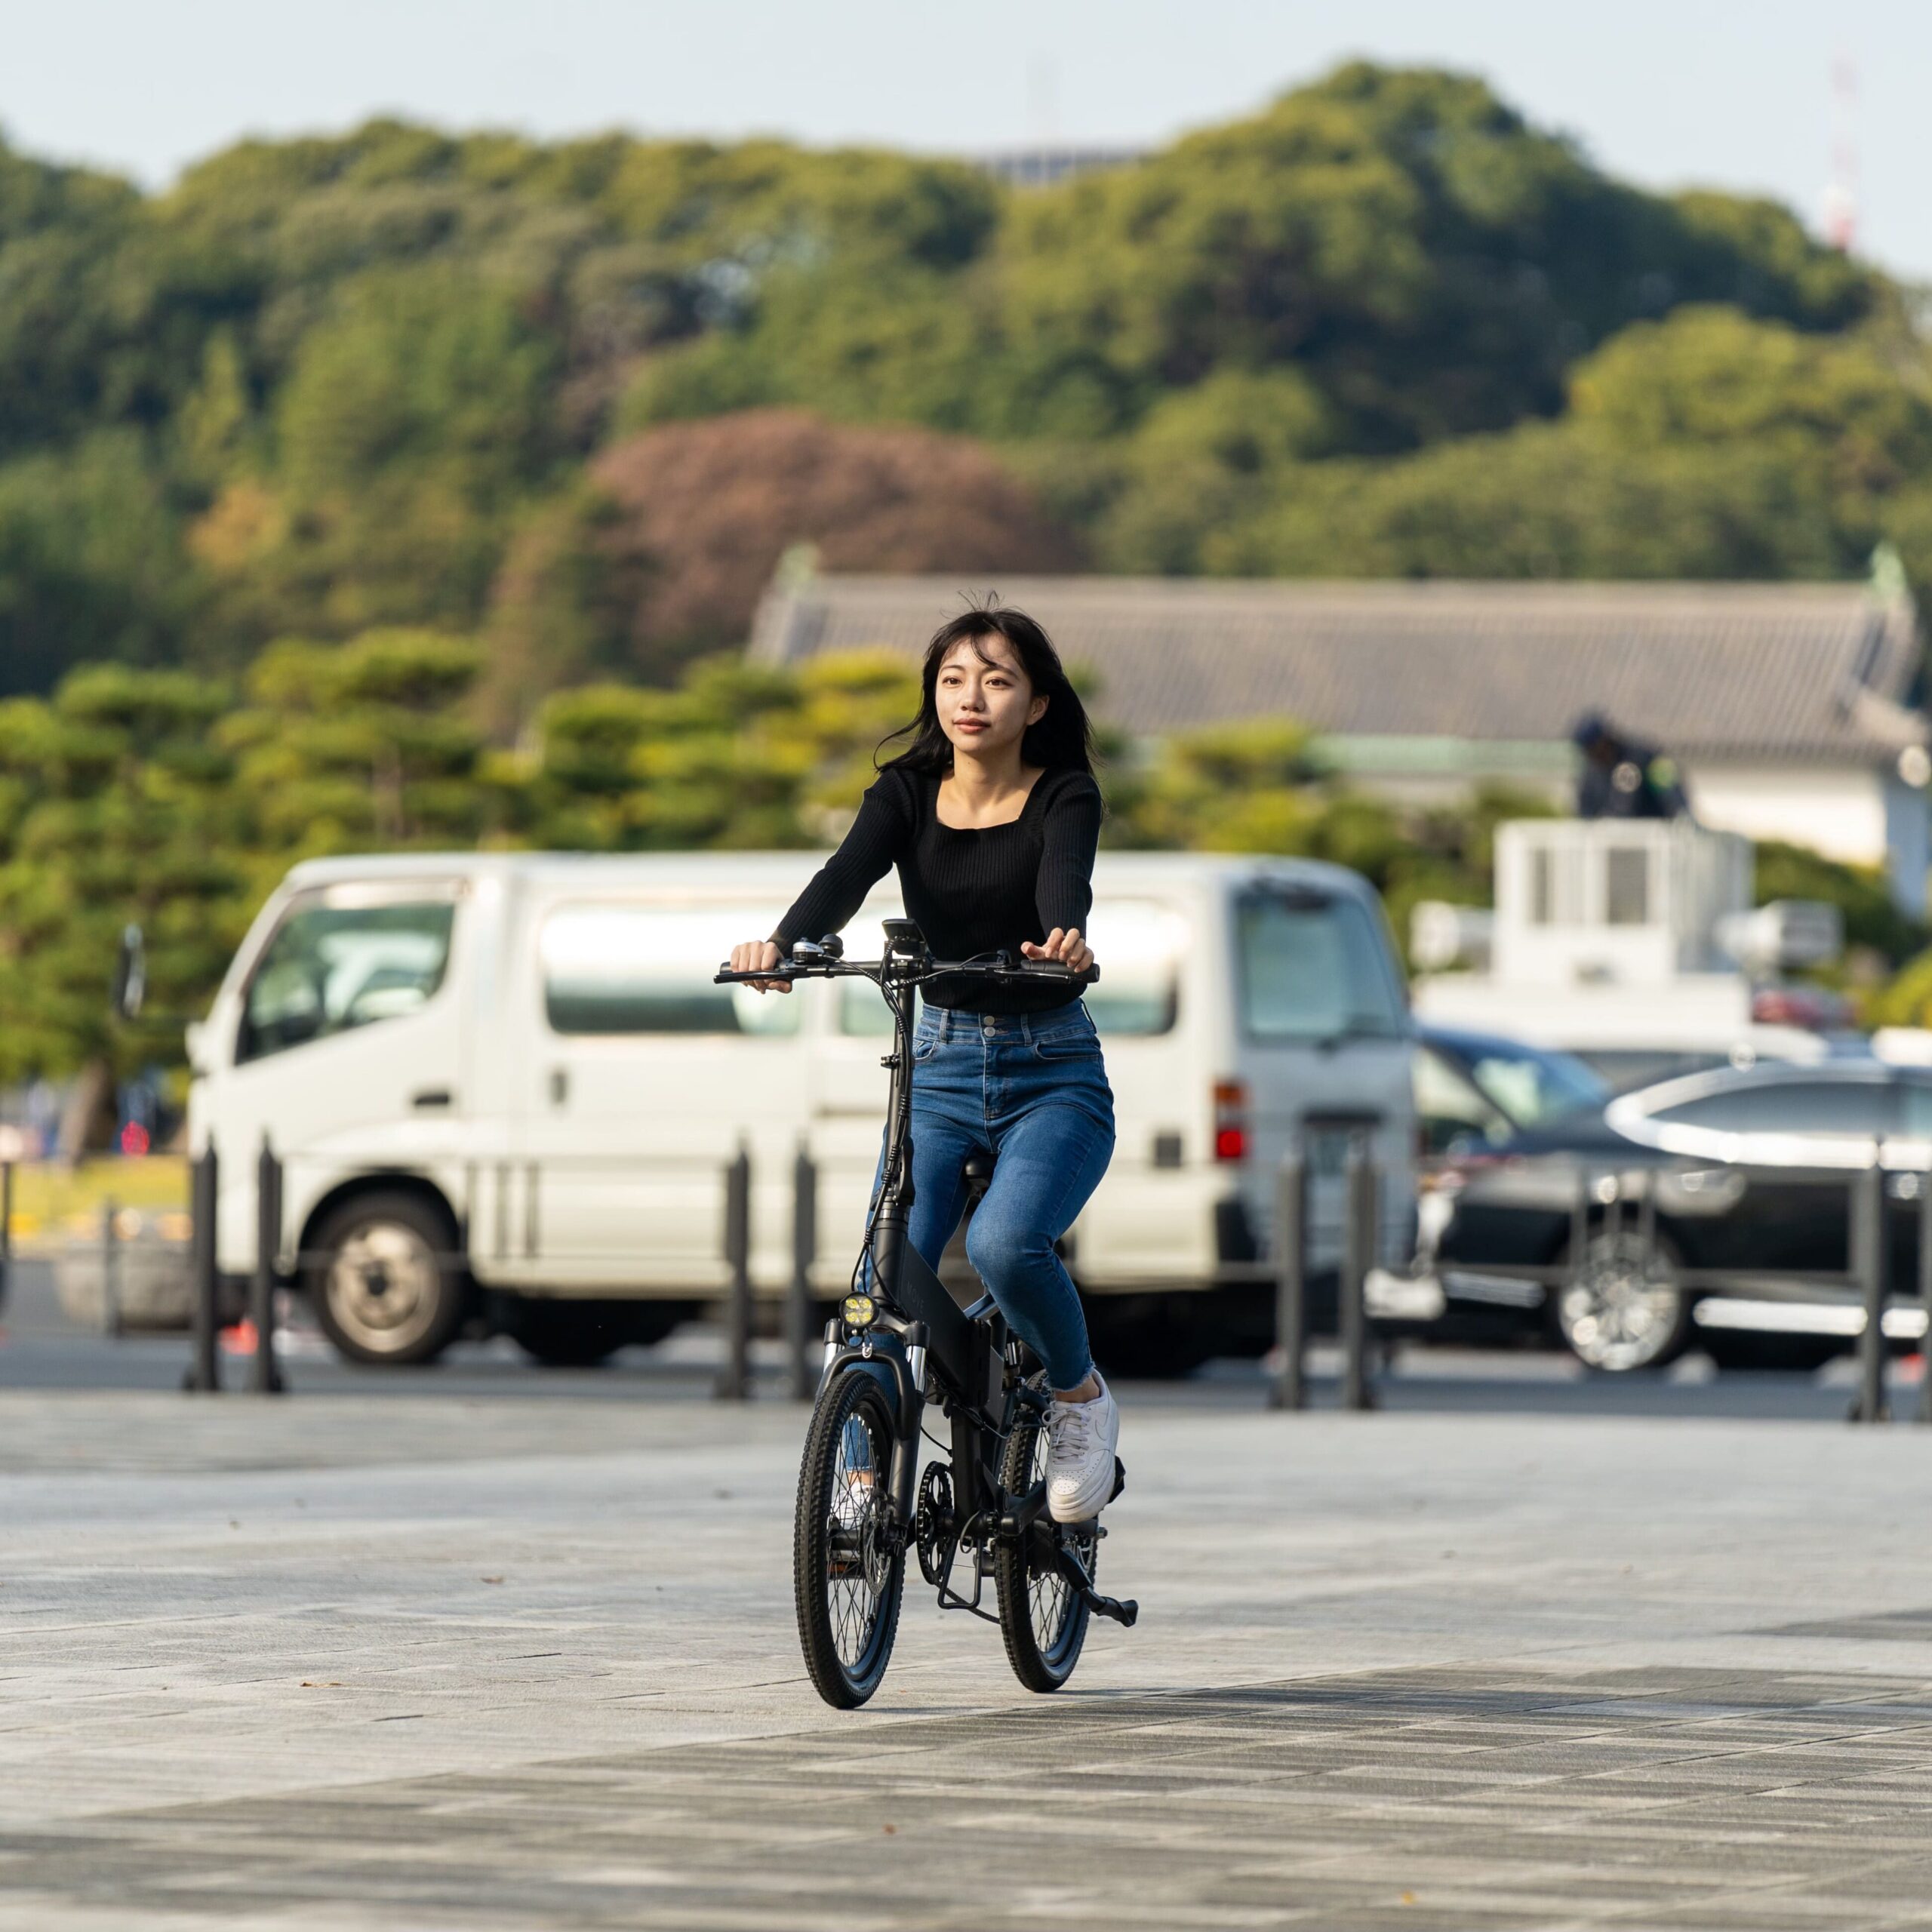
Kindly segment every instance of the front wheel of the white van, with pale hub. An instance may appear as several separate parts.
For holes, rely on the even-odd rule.
[[[456,1229],[417,1194],[357,1194],[309,1236],[309,1302],[350,1362],[433,1362],[468,1314]]]

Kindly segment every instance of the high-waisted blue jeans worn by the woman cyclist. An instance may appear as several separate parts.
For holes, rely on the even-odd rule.
[[[995,1157],[966,1260],[1055,1389],[1094,1368],[1053,1242],[1113,1159],[1113,1090],[1084,1005],[981,1014],[927,1007],[912,1041],[912,1246],[937,1267],[966,1206],[968,1153]]]

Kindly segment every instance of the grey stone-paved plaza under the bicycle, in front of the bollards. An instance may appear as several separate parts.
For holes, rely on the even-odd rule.
[[[837,1716],[800,1428],[0,1397],[0,1928],[1932,1926],[1932,1432],[1130,1406],[1140,1629]]]

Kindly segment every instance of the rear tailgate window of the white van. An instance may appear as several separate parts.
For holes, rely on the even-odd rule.
[[[1397,1039],[1408,1016],[1368,908],[1252,893],[1235,906],[1240,1018],[1252,1039]]]

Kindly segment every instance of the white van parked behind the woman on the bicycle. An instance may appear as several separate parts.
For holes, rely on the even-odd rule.
[[[508,1331],[545,1360],[667,1333],[726,1281],[723,1173],[752,1157],[752,1273],[850,1273],[879,1148],[887,1014],[864,981],[717,987],[815,860],[410,854],[298,866],[189,1030],[189,1144],[218,1153],[218,1265],[255,1264],[257,1153],[282,1161],[278,1275],[350,1358]],[[877,951],[881,885],[846,927]],[[1312,1265],[1339,1244],[1337,1124],[1374,1122],[1385,1252],[1414,1206],[1410,1022],[1374,891],[1333,866],[1103,854],[1088,1003],[1119,1144],[1068,1236],[1103,1360],[1269,1335],[1273,1173],[1312,1134]],[[1323,1138],[1325,1136],[1325,1138]],[[1323,1151],[1325,1150],[1325,1151]]]

